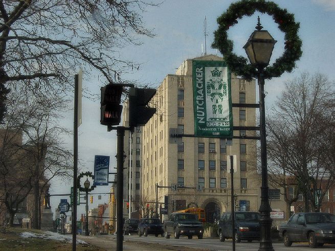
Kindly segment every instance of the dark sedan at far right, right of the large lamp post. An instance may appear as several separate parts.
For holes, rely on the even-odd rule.
[[[284,245],[308,241],[310,247],[335,243],[335,216],[328,213],[297,213],[279,226]]]

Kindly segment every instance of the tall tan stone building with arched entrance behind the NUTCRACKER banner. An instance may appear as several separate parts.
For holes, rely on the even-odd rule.
[[[150,106],[156,107],[157,112],[132,135],[135,154],[131,157],[130,174],[128,172],[132,184],[130,204],[140,215],[145,215],[146,210],[154,211],[156,199],[158,205],[162,205],[158,207],[164,208],[164,201],[168,202],[168,214],[189,207],[204,208],[206,220],[213,222],[222,212],[231,209],[227,155],[236,155],[235,206],[238,210],[258,211],[260,177],[256,172],[256,140],[185,137],[173,143],[170,138],[170,128],[194,134],[192,60],[222,61],[222,58],[206,55],[187,59],[158,87],[150,101]],[[254,80],[249,82],[232,75],[231,91],[232,103],[256,102]],[[127,124],[127,113],[126,108],[124,125]],[[256,126],[256,109],[233,107],[233,124]],[[234,135],[255,136],[256,133],[241,130],[234,131]],[[129,139],[126,133],[125,149]],[[171,188],[174,185],[176,190]]]

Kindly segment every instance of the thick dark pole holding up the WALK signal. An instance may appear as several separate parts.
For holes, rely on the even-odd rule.
[[[124,127],[117,127],[117,234],[116,250],[123,249],[123,151],[124,151]]]

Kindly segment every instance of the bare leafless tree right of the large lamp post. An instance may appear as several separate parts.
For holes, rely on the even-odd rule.
[[[309,204],[312,210],[319,210],[322,198],[334,182],[319,144],[320,138],[328,137],[320,118],[330,122],[327,115],[334,99],[332,83],[322,74],[303,73],[285,83],[285,87],[267,120],[269,160],[273,164],[270,171],[284,178],[294,176],[297,192],[305,198],[305,211]],[[281,182],[281,186],[286,189],[287,183]],[[296,196],[291,198],[292,202],[295,199]]]

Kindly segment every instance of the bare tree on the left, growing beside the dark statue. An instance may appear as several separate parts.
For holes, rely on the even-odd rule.
[[[72,170],[72,153],[64,147],[63,137],[69,131],[59,125],[61,111],[66,109],[66,99],[60,95],[45,95],[34,90],[34,94],[24,86],[17,86],[9,94],[13,102],[8,103],[5,117],[5,131],[23,133],[17,151],[23,152],[25,176],[4,172],[6,180],[13,176],[20,182],[25,181],[28,193],[32,191],[34,201],[30,211],[32,227],[40,228],[42,195],[48,190],[49,181],[55,176],[69,178]],[[47,97],[48,96],[48,97]],[[3,149],[7,149],[4,144]],[[9,157],[16,157],[17,152]],[[6,158],[10,159],[9,157]],[[5,170],[5,169],[4,169]],[[8,207],[9,210],[9,207]]]

